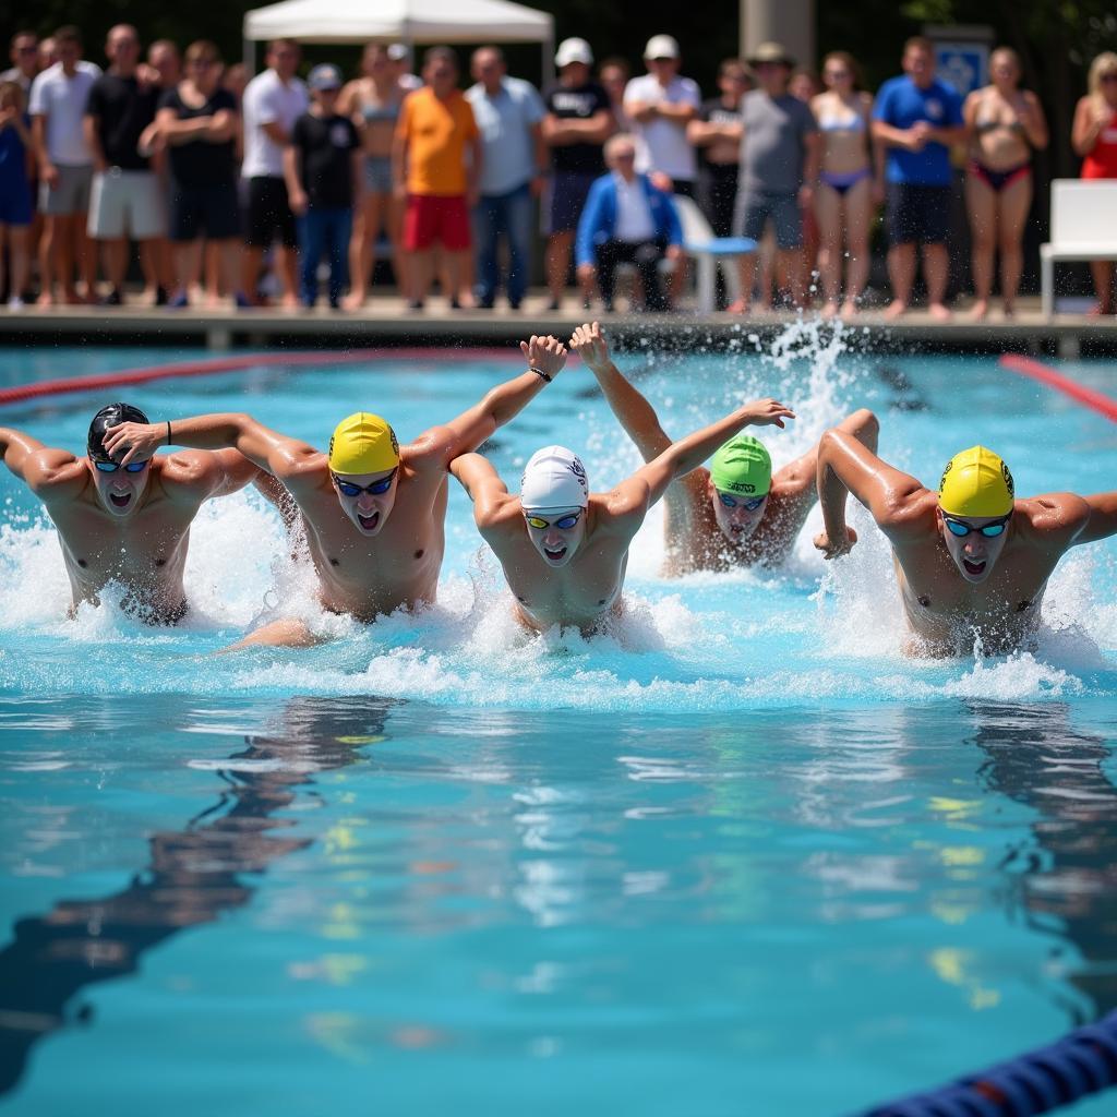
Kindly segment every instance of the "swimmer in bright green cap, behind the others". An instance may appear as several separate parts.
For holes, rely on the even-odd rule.
[[[605,399],[645,461],[671,445],[651,404],[613,364],[598,323],[579,326],[570,341],[598,379]],[[839,430],[877,448],[877,417],[855,411]],[[819,448],[772,474],[772,459],[752,435],[736,435],[714,455],[710,468],[680,477],[663,498],[665,577],[699,570],[725,571],[783,562],[818,499]]]

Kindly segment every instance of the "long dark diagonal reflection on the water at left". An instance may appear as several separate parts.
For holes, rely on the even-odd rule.
[[[19,919],[0,949],[0,1095],[18,1083],[32,1046],[67,1022],[67,1005],[82,989],[133,973],[146,951],[176,932],[242,907],[255,891],[242,873],[265,872],[309,846],[313,839],[292,832],[294,820],[274,815],[316,774],[354,763],[382,739],[394,705],[373,697],[292,699],[274,734],[247,737],[247,747],[229,757],[236,767],[221,773],[228,787],[213,806],[182,830],[151,837],[151,860],[127,888]],[[246,762],[260,767],[246,771]]]

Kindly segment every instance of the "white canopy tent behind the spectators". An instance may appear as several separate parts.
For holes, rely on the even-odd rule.
[[[254,44],[302,42],[543,44],[543,74],[553,73],[554,18],[509,0],[284,0],[245,13],[245,61]]]

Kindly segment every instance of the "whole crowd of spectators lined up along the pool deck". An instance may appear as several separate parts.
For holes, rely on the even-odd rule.
[[[247,82],[207,40],[181,59],[168,40],[144,56],[127,25],[108,32],[104,70],[84,52],[77,28],[42,41],[22,31],[0,74],[0,289],[13,309],[32,288],[45,306],[123,304],[133,242],[152,305],[312,307],[328,273],[328,305],[357,309],[385,257],[412,311],[436,279],[451,307],[503,296],[515,309],[542,226],[552,309],[572,279],[586,308],[612,309],[626,265],[633,303],[668,311],[687,283],[682,228],[708,226],[761,246],[720,292],[729,311],[780,300],[848,317],[884,207],[885,313],[907,311],[922,265],[927,308],[946,319],[964,152],[971,313],[989,314],[996,278],[1011,315],[1032,154],[1048,143],[1011,49],[963,99],[935,76],[924,38],[876,96],[848,52],[827,55],[820,83],[766,42],[726,59],[706,99],[670,35],[648,40],[637,75],[566,39],[543,94],[509,76],[495,46],[472,52],[465,89],[446,47],[427,50],[417,76],[405,47],[372,44],[349,82],[333,65],[304,82],[288,39]],[[1117,55],[1090,68],[1072,145],[1083,178],[1117,178]],[[1091,270],[1097,312],[1110,314],[1113,267]]]

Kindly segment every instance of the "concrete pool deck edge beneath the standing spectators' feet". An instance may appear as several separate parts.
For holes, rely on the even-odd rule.
[[[305,349],[375,347],[378,345],[504,345],[531,333],[569,336],[586,318],[598,318],[621,344],[647,342],[659,346],[694,344],[722,347],[756,335],[767,341],[795,315],[777,312],[743,317],[729,314],[670,315],[602,314],[586,312],[573,295],[562,311],[547,307],[542,293],[533,293],[519,311],[451,311],[446,299],[432,298],[426,311],[413,313],[395,295],[376,295],[360,312],[340,313],[278,308],[236,311],[228,307],[153,309],[139,302],[123,307],[63,306],[0,311],[0,345],[206,345],[214,350],[237,346]],[[999,312],[984,322],[966,317],[963,304],[951,322],[942,323],[925,311],[913,311],[898,322],[866,311],[847,323],[867,347],[904,351],[1022,352],[1061,357],[1117,354],[1117,317],[1059,314],[1044,319],[1038,298],[1020,300],[1011,321]],[[865,333],[861,331],[865,330]]]

